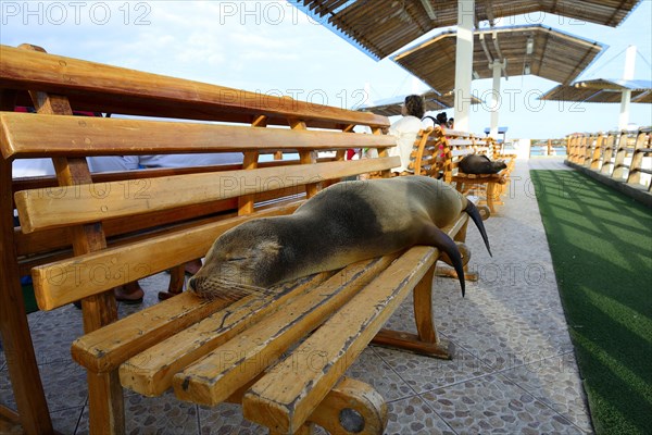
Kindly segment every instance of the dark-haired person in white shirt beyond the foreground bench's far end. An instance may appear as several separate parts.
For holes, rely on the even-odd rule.
[[[410,154],[416,140],[416,135],[423,128],[422,117],[425,113],[424,98],[418,95],[405,97],[401,105],[401,117],[389,127],[389,134],[397,138],[397,147],[389,150],[390,156],[399,156],[401,165],[392,167],[392,172],[403,175],[410,173]]]

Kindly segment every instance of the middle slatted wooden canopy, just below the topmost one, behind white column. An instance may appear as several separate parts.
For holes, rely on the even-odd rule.
[[[503,75],[534,74],[569,84],[595,60],[604,46],[555,30],[535,26],[493,27],[474,33],[475,78],[493,75],[489,64],[506,60]],[[455,86],[456,33],[444,32],[392,58],[428,86],[447,92]]]

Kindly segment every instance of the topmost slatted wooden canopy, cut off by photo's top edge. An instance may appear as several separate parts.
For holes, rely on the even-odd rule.
[[[374,59],[426,33],[457,25],[457,0],[290,0]],[[615,27],[640,0],[476,0],[475,21],[543,12]],[[476,24],[476,27],[478,25]]]

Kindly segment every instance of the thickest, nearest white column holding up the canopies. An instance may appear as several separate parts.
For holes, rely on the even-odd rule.
[[[457,0],[457,48],[455,51],[455,129],[468,130],[473,74],[473,26],[475,0]]]

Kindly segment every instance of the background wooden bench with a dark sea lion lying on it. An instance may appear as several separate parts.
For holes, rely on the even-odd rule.
[[[498,174],[465,174],[459,169],[460,161],[468,154],[487,154],[492,160],[504,160],[507,167]],[[494,157],[496,156],[496,157]],[[447,128],[422,130],[417,135],[410,169],[415,174],[434,176],[446,183],[454,183],[464,194],[484,197],[491,213],[501,204],[503,187],[514,167],[513,156],[500,156],[491,138],[477,138],[473,134]],[[476,190],[481,188],[480,191]],[[473,190],[472,190],[473,189]]]

